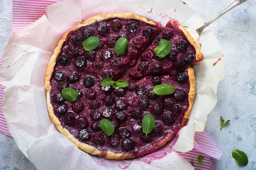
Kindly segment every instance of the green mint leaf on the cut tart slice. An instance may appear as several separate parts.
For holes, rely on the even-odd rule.
[[[167,40],[161,40],[159,45],[154,49],[155,54],[160,57],[166,57],[172,51],[172,45]]]

